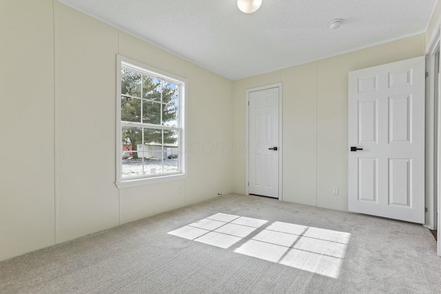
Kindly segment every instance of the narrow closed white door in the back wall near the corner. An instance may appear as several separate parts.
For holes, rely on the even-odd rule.
[[[278,198],[279,88],[249,92],[248,193]]]

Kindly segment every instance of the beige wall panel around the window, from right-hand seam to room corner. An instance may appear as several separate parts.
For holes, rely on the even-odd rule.
[[[187,78],[189,96],[187,180],[119,190],[121,223],[230,193],[232,82],[124,32],[119,32],[118,53]]]

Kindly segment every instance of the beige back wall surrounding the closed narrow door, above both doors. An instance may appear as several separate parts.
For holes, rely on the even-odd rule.
[[[347,210],[347,74],[422,56],[424,42],[420,34],[234,81],[232,145],[245,143],[245,90],[283,83],[283,200]],[[245,193],[245,149],[232,154],[232,189]]]

